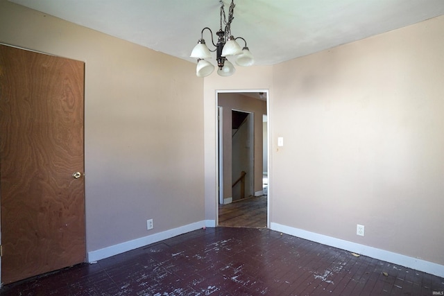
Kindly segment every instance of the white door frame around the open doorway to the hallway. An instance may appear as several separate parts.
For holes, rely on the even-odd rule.
[[[220,198],[220,194],[223,193],[223,189],[222,191],[220,190],[221,184],[223,184],[223,166],[221,167],[220,163],[219,163],[219,159],[221,159],[221,155],[222,154],[222,159],[223,159],[223,153],[219,153],[219,130],[220,130],[220,125],[222,124],[221,122],[219,122],[219,94],[226,94],[226,93],[244,93],[244,92],[263,92],[264,94],[266,94],[266,114],[267,114],[267,139],[266,139],[266,145],[267,145],[267,172],[268,172],[268,187],[267,187],[267,207],[266,207],[266,227],[270,228],[270,203],[271,203],[271,190],[270,190],[270,185],[271,185],[271,173],[270,173],[270,166],[271,166],[271,153],[270,153],[270,148],[271,148],[271,143],[270,143],[270,139],[271,139],[271,134],[270,134],[270,130],[271,130],[271,116],[270,116],[270,92],[269,89],[216,89],[215,92],[215,101],[216,101],[216,107],[214,108],[214,113],[216,114],[216,129],[214,130],[214,132],[216,132],[216,219],[215,219],[215,226],[218,227],[219,226],[219,198]],[[254,123],[253,123],[254,124]],[[253,188],[253,192],[254,188]],[[223,195],[222,195],[223,198]]]

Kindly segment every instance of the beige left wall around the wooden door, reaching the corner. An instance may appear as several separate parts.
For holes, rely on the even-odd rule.
[[[0,42],[85,62],[88,252],[204,219],[194,64],[6,0]]]

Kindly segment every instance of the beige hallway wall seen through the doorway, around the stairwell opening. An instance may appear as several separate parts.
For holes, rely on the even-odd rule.
[[[219,94],[219,106],[223,107],[223,198],[232,197],[232,109],[254,114],[254,192],[262,191],[262,114],[266,114],[266,101],[236,93]]]

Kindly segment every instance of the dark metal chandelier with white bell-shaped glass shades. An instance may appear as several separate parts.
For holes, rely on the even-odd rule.
[[[197,58],[196,76],[205,77],[209,76],[214,71],[214,65],[207,60],[211,58],[211,53],[216,51],[216,61],[217,73],[220,76],[231,76],[236,69],[234,69],[233,64],[227,59],[227,57],[234,57],[236,59],[236,64],[239,66],[251,66],[254,62],[253,55],[247,47],[247,42],[242,37],[234,38],[231,33],[231,22],[233,21],[234,12],[234,0],[231,1],[230,9],[228,10],[228,21],[225,17],[225,9],[223,8],[223,1],[219,0],[221,3],[221,28],[216,32],[217,43],[214,44],[213,32],[210,28],[205,27],[200,33],[200,39],[197,45],[194,46],[193,51],[191,51],[191,58]],[[224,29],[222,27],[225,26]],[[203,40],[203,31],[208,30],[211,33],[211,42],[214,47],[213,50],[208,49],[205,40]],[[241,39],[244,41],[245,46],[241,48],[236,40]]]

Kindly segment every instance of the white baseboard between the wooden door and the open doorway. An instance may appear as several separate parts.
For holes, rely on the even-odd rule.
[[[126,241],[125,243],[119,243],[117,245],[111,245],[110,247],[104,247],[103,249],[100,250],[88,252],[87,261],[90,263],[101,259],[105,259],[110,256],[114,256],[117,254],[128,252],[130,250],[137,249],[137,247],[143,247],[144,245],[157,243],[158,241],[163,241],[164,239],[171,238],[173,236],[178,236],[180,234],[192,232],[202,227],[214,227],[211,225],[216,225],[214,220],[203,220],[196,223],[191,223],[189,225],[177,227],[174,229],[169,229],[164,232],[158,232],[157,234],[152,234],[150,236],[136,238],[133,241]]]

